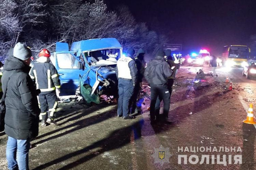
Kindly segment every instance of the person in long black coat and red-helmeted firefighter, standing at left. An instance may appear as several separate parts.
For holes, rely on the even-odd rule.
[[[39,52],[39,58],[32,69],[29,66],[31,57],[30,48],[18,42],[10,49],[2,71],[9,170],[29,169],[30,141],[38,136],[39,119],[42,126],[55,123],[56,92],[59,93],[61,87],[59,75],[50,63],[50,52],[47,49]]]

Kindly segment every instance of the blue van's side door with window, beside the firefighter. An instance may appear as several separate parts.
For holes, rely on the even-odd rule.
[[[55,68],[60,75],[60,96],[75,95],[79,85],[79,74],[85,73],[82,63],[72,53],[55,52]]]

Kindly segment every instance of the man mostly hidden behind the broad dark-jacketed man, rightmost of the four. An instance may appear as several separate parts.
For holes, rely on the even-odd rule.
[[[172,85],[174,83],[174,76],[175,76],[175,73],[176,73],[176,64],[174,63],[173,61],[173,58],[172,58],[172,55],[171,55],[171,50],[166,50],[165,51],[165,59],[167,60],[171,70],[172,70],[172,75],[170,77],[168,77],[168,82],[167,82],[167,88],[170,92],[170,97],[171,97],[171,94],[172,94]],[[162,100],[161,100],[162,101]],[[157,115],[162,115],[162,117],[160,117],[160,120],[167,120],[168,118],[168,114],[159,114],[160,112],[160,103],[161,103],[159,97],[157,98],[157,102],[156,102],[156,107],[155,107],[155,112]]]

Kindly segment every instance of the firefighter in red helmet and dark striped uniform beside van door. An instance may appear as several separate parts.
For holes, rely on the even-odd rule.
[[[61,88],[58,72],[54,65],[50,63],[50,56],[51,54],[47,49],[42,49],[39,52],[37,62],[30,72],[31,78],[35,80],[36,88],[41,90],[38,97],[41,109],[39,119],[41,120],[42,126],[46,126],[46,123],[55,123],[53,114],[56,112],[58,104],[56,91],[57,93],[60,93]],[[48,106],[49,111],[47,114]]]

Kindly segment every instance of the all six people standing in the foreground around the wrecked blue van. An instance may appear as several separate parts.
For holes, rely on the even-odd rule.
[[[168,118],[170,96],[176,65],[171,51],[158,50],[154,60],[147,65],[145,51],[129,48],[125,57],[117,61],[118,109],[117,117],[134,119],[129,114],[140,113],[136,102],[145,76],[151,87],[151,124]],[[31,68],[30,48],[18,42],[9,51],[3,65],[1,77],[2,95],[5,99],[5,133],[8,135],[6,157],[9,170],[29,169],[30,141],[38,136],[41,125],[54,124],[57,94],[60,93],[60,79],[50,63],[50,52],[42,49]],[[1,90],[0,90],[1,91]],[[160,102],[164,103],[160,114]],[[16,157],[17,156],[17,157]]]

